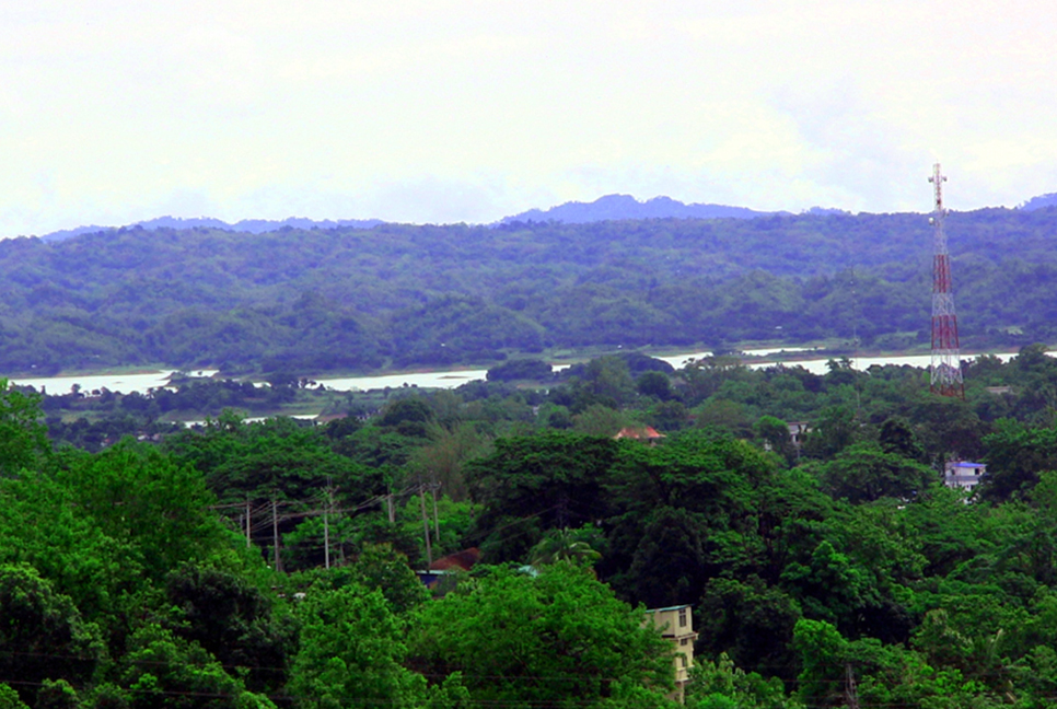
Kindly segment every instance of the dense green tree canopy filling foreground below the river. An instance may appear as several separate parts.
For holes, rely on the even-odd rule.
[[[0,702],[667,707],[672,648],[641,606],[686,604],[698,709],[1047,706],[1045,348],[973,360],[965,400],[905,367],[660,364],[73,439],[91,450],[53,448],[43,412],[61,438],[155,398],[5,387]],[[966,454],[988,465],[972,495],[941,484]],[[451,553],[478,565],[427,589],[415,570]]]

